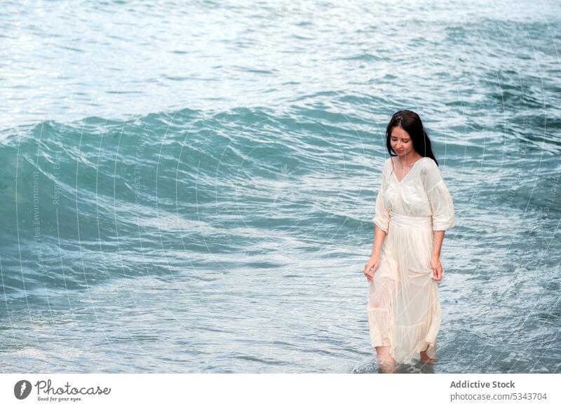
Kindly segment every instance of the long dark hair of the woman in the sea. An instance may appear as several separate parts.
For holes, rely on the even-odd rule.
[[[397,111],[393,116],[391,116],[390,123],[386,128],[386,147],[388,148],[388,154],[390,156],[397,156],[398,154],[391,148],[391,130],[398,126],[402,128],[411,136],[413,141],[413,149],[417,151],[418,154],[424,157],[430,157],[438,165],[438,161],[433,154],[433,149],[431,148],[431,140],[426,134],[426,130],[423,127],[423,122],[419,115],[414,111]]]

